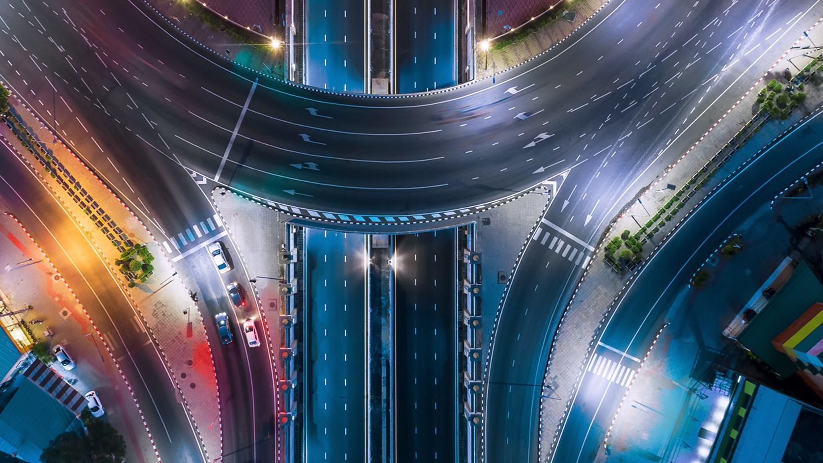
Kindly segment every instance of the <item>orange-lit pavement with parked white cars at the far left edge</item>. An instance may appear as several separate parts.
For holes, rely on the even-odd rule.
[[[0,201],[0,211],[7,209]],[[33,307],[11,317],[18,322],[42,320],[40,324],[26,323],[30,334],[35,340],[47,342],[49,349],[64,345],[77,363],[71,371],[52,365],[54,371],[76,381],[72,386],[83,394],[97,391],[105,419],[126,441],[127,461],[156,461],[133,396],[103,340],[96,339],[91,319],[23,225],[6,213],[0,214],[0,266],[3,302],[12,311]],[[44,334],[46,330],[50,336]]]

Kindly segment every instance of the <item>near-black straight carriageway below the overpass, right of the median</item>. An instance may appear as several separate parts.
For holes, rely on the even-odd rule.
[[[396,461],[458,461],[455,229],[395,237]]]

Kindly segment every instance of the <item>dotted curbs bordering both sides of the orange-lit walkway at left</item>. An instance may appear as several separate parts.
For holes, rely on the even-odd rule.
[[[0,82],[0,85],[2,85],[2,86],[4,86],[4,87],[6,87],[6,88],[8,89],[8,87],[7,87],[7,86],[5,86],[5,84],[4,84],[4,83]],[[30,108],[29,108],[29,107],[28,107],[28,106],[27,106],[27,105],[26,105],[26,104],[25,104],[22,100],[20,100],[19,98],[17,98],[17,95],[14,95],[14,96],[15,96],[15,99],[17,100],[17,102],[21,105],[21,107],[23,107],[24,109],[26,109],[26,111],[28,111],[28,113],[29,113],[29,114],[30,114],[33,118],[35,118],[38,122],[40,122],[40,124],[42,124],[42,127],[44,127],[44,128],[45,128],[45,129],[49,132],[49,134],[51,134],[51,135],[55,138],[55,140],[57,140],[57,141],[60,143],[60,145],[61,145],[61,146],[63,146],[63,148],[64,148],[65,150],[67,150],[67,152],[68,152],[69,154],[71,154],[72,156],[74,156],[75,160],[77,160],[77,162],[78,162],[78,163],[80,163],[83,167],[85,167],[85,168],[86,168],[86,170],[88,171],[88,174],[91,174],[91,175],[92,175],[92,176],[93,176],[93,177],[94,177],[94,178],[95,178],[98,182],[100,182],[100,185],[102,185],[102,186],[106,189],[106,191],[108,191],[109,193],[111,193],[111,195],[112,195],[112,196],[113,196],[113,197],[114,197],[117,201],[119,201],[120,205],[121,205],[121,206],[123,206],[123,207],[124,207],[124,208],[125,208],[125,209],[129,212],[129,213],[131,213],[131,214],[132,214],[132,216],[133,216],[133,217],[137,220],[137,222],[138,222],[140,225],[142,225],[143,229],[145,229],[145,230],[146,230],[146,233],[148,233],[148,234],[149,234],[149,236],[151,237],[151,240],[155,243],[156,247],[157,247],[157,248],[160,248],[160,244],[158,244],[158,243],[157,243],[157,240],[156,240],[156,238],[155,238],[154,234],[152,234],[152,233],[151,233],[151,230],[150,230],[150,229],[148,229],[148,227],[146,227],[146,224],[145,224],[145,223],[143,223],[143,221],[140,219],[140,217],[138,217],[138,216],[134,213],[134,211],[132,211],[132,209],[131,209],[130,207],[128,207],[128,205],[126,205],[126,203],[125,203],[125,202],[123,202],[123,200],[122,200],[122,199],[120,199],[120,197],[119,197],[116,193],[114,193],[114,192],[111,190],[111,188],[109,188],[109,186],[108,186],[108,185],[107,185],[107,184],[106,184],[106,183],[105,183],[102,179],[100,179],[100,177],[98,177],[98,176],[97,176],[97,174],[95,174],[95,172],[94,172],[93,170],[91,170],[91,169],[89,168],[89,166],[88,166],[85,162],[83,162],[83,160],[81,160],[81,158],[80,158],[79,156],[77,156],[77,154],[74,152],[74,150],[72,150],[72,148],[70,148],[70,147],[69,147],[69,146],[67,146],[65,143],[63,143],[63,139],[62,139],[61,137],[59,137],[59,136],[58,136],[58,135],[56,135],[54,132],[52,132],[52,131],[51,131],[51,129],[50,129],[50,127],[49,127],[48,125],[46,125],[46,123],[44,123],[44,121],[43,121],[42,119],[40,119],[40,117],[38,117],[38,116],[37,116],[37,114],[35,114],[33,111],[31,111],[31,110],[30,110]],[[27,129],[26,129],[26,132],[28,132],[28,130],[27,130]],[[6,142],[7,142],[7,144],[9,144],[9,146],[11,146],[11,143],[10,143],[10,142],[6,139],[6,137],[2,137],[2,136],[0,136],[0,139],[2,139],[3,141],[6,141]],[[39,141],[39,139],[38,139],[38,138],[34,138],[34,140],[35,140],[35,142],[36,142],[36,143],[40,144],[40,141]],[[169,362],[168,358],[167,358],[167,357],[166,357],[166,355],[165,355],[165,350],[163,349],[163,346],[162,346],[162,345],[160,345],[160,341],[159,341],[159,340],[157,340],[157,337],[156,337],[156,335],[154,334],[154,331],[151,329],[151,326],[149,326],[148,322],[146,322],[146,318],[145,318],[145,317],[143,317],[142,311],[139,309],[139,307],[138,307],[138,305],[137,305],[137,302],[136,302],[136,301],[135,301],[135,299],[133,298],[133,295],[131,294],[130,288],[128,288],[128,285],[126,284],[126,282],[125,282],[125,281],[123,281],[123,280],[121,279],[121,276],[119,275],[119,272],[117,271],[117,268],[116,268],[115,266],[113,266],[111,262],[109,262],[109,259],[108,259],[108,258],[106,258],[106,257],[105,257],[105,253],[103,252],[103,250],[102,250],[102,249],[100,249],[100,246],[99,246],[99,245],[95,242],[95,239],[94,239],[94,238],[91,238],[91,232],[90,232],[89,230],[86,230],[86,228],[82,225],[81,220],[80,220],[80,219],[78,219],[77,215],[75,215],[75,214],[74,214],[74,212],[72,211],[72,209],[71,209],[69,206],[67,206],[67,204],[63,201],[63,199],[59,196],[59,193],[51,187],[51,185],[49,184],[49,180],[48,180],[47,178],[44,178],[44,177],[40,174],[40,171],[39,171],[38,169],[36,169],[36,167],[35,167],[33,164],[31,164],[31,163],[29,162],[29,160],[27,160],[27,159],[26,159],[26,156],[22,155],[22,154],[21,154],[21,152],[20,152],[19,150],[17,150],[17,149],[16,149],[16,147],[14,147],[14,146],[11,146],[11,147],[12,147],[12,149],[13,149],[13,150],[15,150],[16,154],[17,154],[18,156],[20,156],[20,157],[21,157],[21,159],[22,159],[22,160],[24,160],[24,161],[26,162],[26,164],[28,164],[28,165],[30,166],[30,168],[31,168],[31,169],[35,172],[35,174],[37,175],[37,177],[38,177],[38,178],[40,178],[40,181],[41,181],[41,183],[43,183],[43,184],[44,184],[44,187],[48,188],[48,189],[49,189],[49,191],[53,193],[53,197],[55,197],[55,198],[56,198],[56,199],[57,199],[57,200],[58,200],[58,201],[59,201],[59,202],[63,205],[63,209],[64,209],[64,210],[66,210],[66,211],[68,212],[68,214],[72,216],[72,219],[75,221],[75,223],[76,223],[78,226],[80,226],[80,227],[81,227],[81,229],[83,229],[84,233],[86,234],[86,238],[88,238],[89,240],[91,240],[91,243],[93,243],[94,247],[97,249],[98,253],[100,254],[100,257],[103,259],[103,261],[105,262],[106,266],[108,266],[108,267],[109,267],[109,269],[113,271],[113,273],[114,273],[114,275],[115,275],[115,277],[116,277],[116,281],[117,281],[117,282],[119,283],[119,285],[120,285],[120,286],[124,289],[124,293],[128,295],[128,299],[132,302],[133,307],[137,309],[137,314],[140,316],[140,318],[141,318],[142,322],[143,322],[143,323],[145,324],[145,326],[146,326],[146,332],[147,332],[147,334],[151,337],[151,340],[154,342],[154,344],[156,345],[157,349],[160,351],[160,354],[161,354],[161,357],[162,357],[162,359],[163,359],[163,362],[165,363],[166,367],[167,367],[167,368],[169,368],[169,370],[170,370],[171,377],[172,377],[172,379],[173,379],[173,381],[174,381],[174,386],[175,386],[175,387],[177,387],[177,390],[179,391],[179,394],[180,394],[181,398],[183,399],[183,405],[184,405],[184,407],[185,407],[185,409],[186,409],[186,412],[187,412],[187,413],[188,413],[188,415],[189,415],[189,418],[190,418],[190,419],[191,419],[191,421],[192,421],[192,424],[193,424],[193,427],[194,427],[195,432],[198,434],[198,440],[200,441],[200,442],[199,442],[199,445],[201,446],[202,451],[203,451],[203,453],[206,455],[206,459],[208,460],[208,451],[207,451],[207,448],[206,448],[206,446],[205,446],[205,443],[204,443],[204,442],[203,442],[203,440],[202,440],[202,434],[200,433],[200,430],[199,430],[199,428],[198,428],[198,425],[197,425],[196,421],[194,420],[194,416],[193,416],[193,414],[192,414],[191,408],[190,408],[190,407],[189,407],[189,405],[188,405],[188,400],[186,400],[186,397],[185,397],[185,395],[184,395],[183,388],[182,388],[182,387],[180,387],[179,382],[177,381],[177,375],[176,375],[176,374],[174,374],[174,368],[172,368],[172,366],[171,366],[171,364],[170,364],[170,362]],[[172,265],[171,265],[171,262],[169,262],[169,261],[168,261],[168,257],[165,255],[165,252],[163,252],[163,249],[162,249],[162,248],[160,248],[160,256],[162,256],[163,258],[165,258],[165,259],[166,259],[166,263],[168,263],[168,264],[169,264],[169,266],[171,266],[172,268],[174,268],[174,266],[172,266]],[[181,284],[182,284],[182,281],[181,281]],[[184,285],[184,287],[185,287],[185,285]],[[188,290],[188,288],[187,288],[187,290]],[[195,308],[197,308],[197,305],[196,305],[196,304],[195,304]],[[85,310],[85,309],[84,309],[84,310]],[[200,317],[200,322],[201,322],[201,324],[202,324],[202,326],[203,326],[203,332],[206,334],[207,345],[209,346],[209,357],[212,359],[212,373],[214,373],[215,384],[216,384],[216,387],[217,387],[217,407],[218,407],[218,419],[219,419],[219,421],[220,421],[220,424],[219,424],[219,425],[220,425],[220,453],[221,453],[221,455],[222,455],[222,453],[223,453],[223,432],[222,432],[222,420],[221,420],[221,409],[220,409],[220,391],[219,391],[219,386],[217,386],[217,373],[216,373],[216,369],[215,369],[214,357],[213,357],[213,355],[212,355],[212,345],[211,345],[211,343],[209,343],[209,342],[208,342],[208,334],[207,334],[207,332],[206,332],[205,322],[203,322],[202,313],[200,312],[200,309],[199,309],[199,308],[197,308],[197,312],[198,312],[198,317]],[[145,421],[145,420],[144,420],[144,421]],[[222,458],[222,456],[221,456],[220,458]],[[158,456],[158,459],[159,459],[159,456]]]

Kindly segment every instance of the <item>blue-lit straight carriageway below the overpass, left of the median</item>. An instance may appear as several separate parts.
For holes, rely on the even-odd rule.
[[[303,461],[365,461],[365,235],[304,239]]]

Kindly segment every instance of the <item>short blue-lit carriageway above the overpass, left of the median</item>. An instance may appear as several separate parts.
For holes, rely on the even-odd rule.
[[[365,4],[364,0],[305,0],[306,84],[365,91]]]

